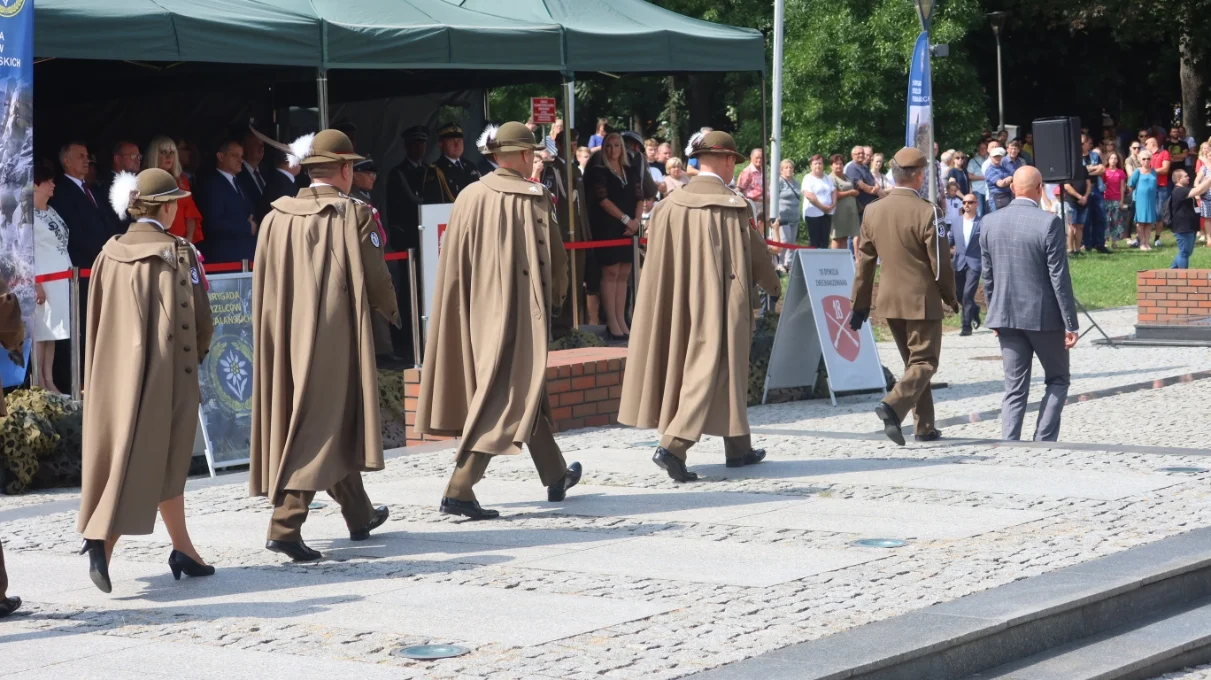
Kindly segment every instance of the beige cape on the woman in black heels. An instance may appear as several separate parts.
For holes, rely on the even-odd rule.
[[[150,534],[185,491],[197,428],[197,367],[213,324],[194,249],[148,223],[92,265],[84,355],[85,538]]]

